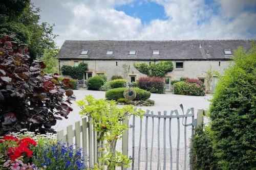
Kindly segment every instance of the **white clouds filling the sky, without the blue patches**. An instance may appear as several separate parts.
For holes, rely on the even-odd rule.
[[[155,19],[143,25],[139,18],[115,10],[133,0],[73,1],[66,4],[73,19],[66,29],[58,30],[57,44],[73,40],[178,40],[178,39],[252,39],[256,14],[245,11],[251,1],[217,0],[220,13],[214,14],[204,0],[155,0],[165,9],[167,20]],[[241,3],[242,2],[242,3]],[[60,16],[61,17],[61,16]],[[198,24],[198,21],[206,20]],[[57,26],[56,26],[56,29]],[[251,33],[248,30],[254,32]]]

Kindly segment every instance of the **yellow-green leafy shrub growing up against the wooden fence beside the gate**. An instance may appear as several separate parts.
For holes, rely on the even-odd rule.
[[[126,105],[122,108],[116,105],[115,101],[96,100],[92,95],[87,95],[84,100],[76,102],[81,108],[79,114],[92,118],[94,131],[97,133],[97,156],[100,163],[106,163],[106,169],[115,169],[115,166],[124,165],[129,167],[131,160],[122,153],[116,151],[117,140],[122,138],[124,131],[128,130],[124,123],[132,115],[140,116],[144,111],[134,110],[132,105]],[[101,141],[105,141],[102,145]],[[100,155],[102,156],[100,157]],[[103,167],[100,167],[104,169]]]

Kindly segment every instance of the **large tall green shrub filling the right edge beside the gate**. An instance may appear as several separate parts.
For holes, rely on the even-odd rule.
[[[254,43],[254,42],[253,42]],[[210,104],[214,148],[222,169],[255,169],[256,45],[239,47]]]

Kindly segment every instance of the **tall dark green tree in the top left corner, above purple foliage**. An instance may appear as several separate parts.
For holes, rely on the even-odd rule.
[[[0,2],[0,37],[16,34],[14,41],[26,43],[30,61],[44,54],[46,48],[54,48],[54,25],[39,23],[39,8],[30,0],[5,0]]]

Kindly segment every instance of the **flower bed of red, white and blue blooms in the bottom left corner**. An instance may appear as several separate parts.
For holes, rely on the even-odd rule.
[[[0,169],[86,169],[81,149],[74,148],[53,134],[11,133],[0,139]]]

